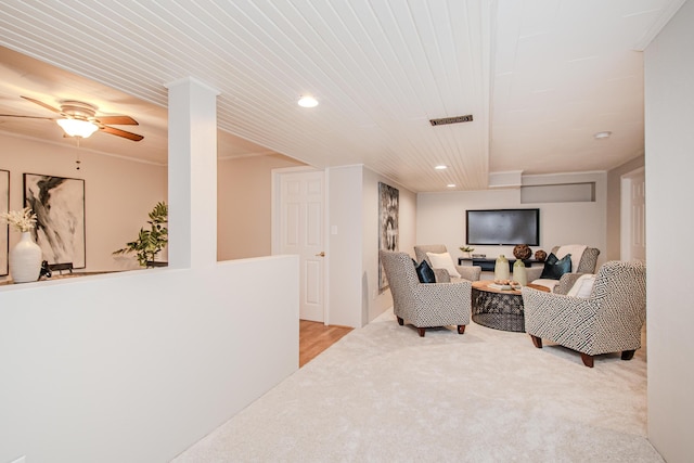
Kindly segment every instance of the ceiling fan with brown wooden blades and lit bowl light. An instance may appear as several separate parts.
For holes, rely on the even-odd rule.
[[[53,113],[60,114],[60,117],[38,117],[38,116],[21,116],[15,114],[0,114],[0,117],[24,117],[27,119],[47,119],[55,120],[68,137],[88,138],[97,130],[113,136],[123,137],[132,141],[140,141],[144,137],[137,133],[120,130],[106,124],[116,126],[138,126],[138,121],[130,116],[100,116],[97,115],[97,107],[81,101],[62,101],[61,108],[51,106],[42,101],[35,100],[29,97],[23,99],[38,104]]]

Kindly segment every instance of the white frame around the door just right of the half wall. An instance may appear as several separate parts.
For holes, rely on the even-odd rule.
[[[281,194],[282,189],[280,188],[280,181],[282,176],[288,176],[292,173],[305,173],[305,172],[323,172],[323,247],[325,248],[325,257],[323,265],[323,324],[330,324],[330,234],[327,233],[327,223],[329,223],[329,210],[327,210],[327,175],[325,175],[324,170],[317,169],[311,166],[299,166],[299,167],[282,167],[278,169],[272,169],[272,188],[271,188],[271,247],[270,253],[274,256],[281,253],[281,240],[280,240],[280,214],[281,214]]]

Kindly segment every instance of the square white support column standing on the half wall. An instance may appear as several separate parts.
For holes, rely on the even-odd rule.
[[[169,267],[217,262],[217,95],[185,78],[169,89]]]

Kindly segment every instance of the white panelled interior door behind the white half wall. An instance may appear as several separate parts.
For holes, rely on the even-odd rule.
[[[299,256],[299,318],[324,321],[324,175],[280,175],[280,253]]]

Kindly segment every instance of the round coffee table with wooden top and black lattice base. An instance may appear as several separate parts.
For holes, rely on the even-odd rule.
[[[518,290],[497,290],[490,287],[491,280],[473,282],[472,318],[483,326],[494,330],[525,332],[523,295]],[[549,293],[550,290],[539,284],[528,287]]]

